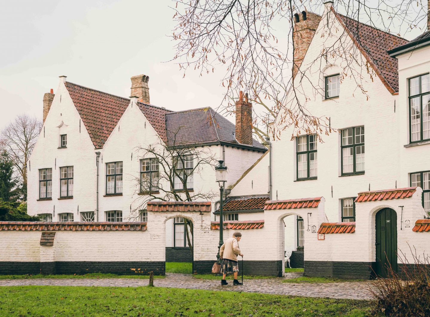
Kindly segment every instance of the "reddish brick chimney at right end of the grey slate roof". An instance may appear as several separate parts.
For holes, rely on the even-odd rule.
[[[239,143],[252,145],[252,103],[248,102],[248,94],[239,92],[236,102],[236,140]]]

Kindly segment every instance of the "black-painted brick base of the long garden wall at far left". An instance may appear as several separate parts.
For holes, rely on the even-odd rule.
[[[212,266],[211,266],[212,267]],[[86,273],[114,273],[128,275],[166,274],[166,262],[0,262],[0,274],[86,274]]]

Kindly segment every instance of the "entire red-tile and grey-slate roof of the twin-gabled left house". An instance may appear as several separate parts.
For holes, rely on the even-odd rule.
[[[129,106],[130,99],[104,93],[70,82],[64,83],[95,148],[102,148],[118,121]],[[138,102],[161,139],[172,144],[174,138],[182,144],[224,142],[238,144],[233,137],[234,124],[212,108],[191,109],[180,112]],[[256,140],[252,146],[257,150],[267,148]]]

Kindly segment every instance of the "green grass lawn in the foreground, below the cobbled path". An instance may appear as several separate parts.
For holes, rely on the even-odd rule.
[[[161,287],[0,286],[0,316],[367,316],[369,301]]]

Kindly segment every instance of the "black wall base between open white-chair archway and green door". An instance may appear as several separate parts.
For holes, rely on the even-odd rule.
[[[304,276],[370,280],[372,262],[304,261]]]

